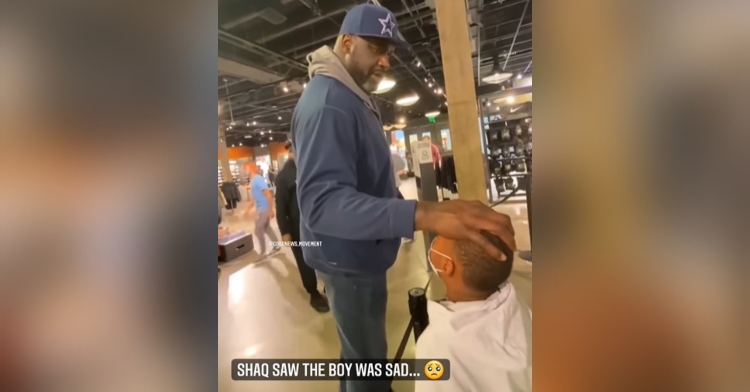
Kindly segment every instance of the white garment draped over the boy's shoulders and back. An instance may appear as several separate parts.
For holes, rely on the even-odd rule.
[[[531,311],[508,282],[485,301],[427,304],[419,359],[450,360],[450,379],[417,381],[415,392],[530,392]]]

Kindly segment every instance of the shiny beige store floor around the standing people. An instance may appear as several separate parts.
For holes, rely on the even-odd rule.
[[[416,199],[414,180],[405,181],[401,191]],[[244,208],[244,203],[239,206]],[[523,199],[509,200],[496,207],[513,218],[520,249],[529,248],[528,220]],[[240,213],[225,215],[224,226],[233,231],[252,232],[250,218]],[[273,227],[278,233],[275,222]],[[256,239],[257,242],[257,239]],[[256,246],[257,249],[257,246]],[[424,242],[421,233],[406,243],[388,271],[388,342],[392,357],[401,342],[409,320],[407,292],[423,287],[429,279],[426,271]],[[531,266],[518,259],[511,277],[520,298],[531,305]],[[430,298],[440,298],[444,288],[435,277],[430,284]],[[282,249],[262,260],[253,252],[222,266],[218,293],[219,392],[276,392],[301,390],[300,382],[235,382],[230,376],[230,362],[235,358],[338,358],[339,342],[330,313],[318,314],[308,304],[292,252]],[[414,356],[414,339],[404,353]],[[411,392],[413,382],[395,382],[396,392]],[[338,391],[338,382],[318,381],[305,387],[309,392]]]

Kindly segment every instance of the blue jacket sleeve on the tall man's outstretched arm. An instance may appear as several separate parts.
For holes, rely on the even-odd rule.
[[[369,179],[357,178],[359,137],[353,116],[324,106],[297,120],[297,199],[306,226],[348,240],[412,238],[415,200],[357,191],[357,182]]]

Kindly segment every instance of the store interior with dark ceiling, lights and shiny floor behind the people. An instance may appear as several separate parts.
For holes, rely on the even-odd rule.
[[[307,82],[308,53],[333,45],[348,9],[364,0],[277,0],[219,3],[218,187],[239,190],[240,200],[223,208],[220,226],[230,233],[253,233],[253,207],[248,201],[247,162],[255,162],[273,186],[269,172],[289,159],[292,113]],[[477,114],[470,129],[451,129],[450,93],[443,67],[446,45],[437,27],[436,2],[380,0],[397,17],[408,43],[391,58],[387,78],[374,93],[383,135],[391,152],[404,159],[400,191],[419,199],[416,142],[429,137],[441,160],[462,165],[467,134],[479,136],[487,201],[512,218],[519,250],[531,249],[530,200],[532,170],[532,7],[528,0],[469,0],[467,26]],[[455,115],[455,114],[454,114]],[[472,148],[476,148],[473,146]],[[455,155],[454,155],[455,153]],[[444,164],[443,167],[454,165]],[[461,172],[459,172],[460,174]],[[461,195],[462,177],[438,183],[439,199]],[[442,186],[441,186],[442,185]],[[248,213],[250,215],[248,215]],[[278,233],[276,222],[272,227]],[[257,238],[253,238],[257,249]],[[407,292],[431,282],[428,298],[441,298],[440,279],[429,271],[424,237],[403,243],[388,271],[387,333],[389,355],[395,354],[410,320]],[[221,239],[220,239],[221,243]],[[220,252],[221,253],[221,252]],[[530,252],[529,252],[530,253]],[[530,259],[530,256],[529,256]],[[531,307],[531,262],[517,258],[511,282]],[[219,262],[219,391],[290,391],[295,382],[233,382],[235,358],[338,358],[339,341],[330,313],[308,304],[292,252],[260,257],[249,251]],[[405,358],[414,357],[410,339]],[[308,384],[306,391],[336,391],[337,382]],[[394,382],[397,392],[413,391],[413,382]]]

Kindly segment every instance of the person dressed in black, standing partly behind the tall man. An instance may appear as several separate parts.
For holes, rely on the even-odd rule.
[[[297,205],[297,165],[294,163],[294,151],[291,143],[286,144],[289,160],[276,176],[276,222],[279,224],[283,241],[300,241],[300,214]],[[297,270],[302,278],[302,286],[310,294],[310,305],[319,313],[330,310],[328,301],[318,291],[318,279],[315,270],[305,263],[302,248],[292,247]]]

